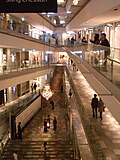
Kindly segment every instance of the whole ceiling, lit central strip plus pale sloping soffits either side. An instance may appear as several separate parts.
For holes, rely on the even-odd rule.
[[[62,27],[66,29],[66,31],[76,31],[76,32],[80,31],[83,28],[93,28],[101,24],[110,23],[113,21],[117,22],[120,21],[119,0],[114,0],[114,2],[112,0],[106,0],[107,2],[109,1],[113,2],[114,5],[112,3],[111,6],[109,6],[110,3],[107,3],[105,1],[108,5],[104,5],[103,7],[104,9],[100,8],[99,4],[97,4],[98,2],[95,3],[95,1],[96,0],[80,0],[77,5],[73,5],[73,0],[64,0],[64,3],[58,5],[58,13],[53,13],[53,14],[51,13],[46,13],[46,14],[11,13],[11,14],[19,18],[24,17],[29,24],[33,25],[36,28],[40,28],[42,26],[42,28],[40,29],[47,30],[48,28],[50,28],[53,31],[54,31],[54,29],[52,28],[53,25],[51,24],[54,24],[54,20],[57,21],[56,25],[54,24],[54,26],[58,27],[56,29],[60,30],[59,27]],[[101,1],[99,2],[101,3],[102,6],[104,0]],[[92,2],[94,2],[94,6],[96,7],[96,9],[91,9],[91,7],[89,8],[89,10],[86,9],[87,6],[90,6],[90,4],[93,7]],[[71,13],[68,13],[67,11],[71,11]],[[44,17],[44,19],[46,19],[47,22],[50,22],[47,23],[46,27],[43,21],[41,20],[41,16]],[[65,21],[65,23],[60,24],[60,20]]]

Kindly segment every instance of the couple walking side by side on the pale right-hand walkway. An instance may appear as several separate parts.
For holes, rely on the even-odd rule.
[[[96,119],[98,118],[98,111],[99,111],[100,119],[102,121],[102,113],[104,112],[105,105],[101,98],[98,100],[96,94],[94,94],[94,97],[92,98],[91,107],[92,107],[92,112],[93,112],[93,118],[94,117],[96,117]]]

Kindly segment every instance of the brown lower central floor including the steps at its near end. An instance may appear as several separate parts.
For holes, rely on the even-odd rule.
[[[67,109],[64,105],[65,92],[61,92],[61,85],[64,83],[63,74],[63,67],[55,69],[54,78],[51,79],[53,97],[50,100],[42,98],[42,108],[24,128],[22,141],[9,141],[3,152],[3,159],[11,159],[13,152],[17,150],[20,160],[74,160]],[[54,110],[50,104],[51,100],[54,101]],[[50,128],[44,132],[44,119],[48,115],[50,115]],[[56,131],[53,130],[54,117],[57,119]],[[44,142],[47,142],[46,155]]]

